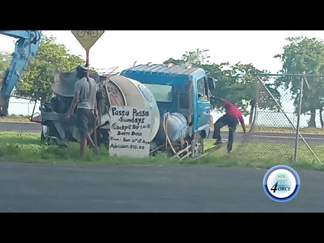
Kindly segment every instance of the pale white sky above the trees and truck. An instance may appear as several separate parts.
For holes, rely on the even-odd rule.
[[[43,30],[43,34],[56,37],[69,53],[82,55],[85,59],[86,51],[70,30]],[[89,60],[91,67],[118,66],[116,71],[120,72],[133,66],[135,61],[136,64],[160,64],[170,57],[181,58],[186,51],[199,48],[210,50],[211,62],[252,63],[258,69],[276,73],[282,64],[273,56],[283,53],[287,37],[301,35],[324,40],[323,30],[105,30],[90,49]],[[13,41],[12,37],[0,35],[0,51],[12,52]],[[17,105],[10,105],[9,112],[14,113],[15,107]]]

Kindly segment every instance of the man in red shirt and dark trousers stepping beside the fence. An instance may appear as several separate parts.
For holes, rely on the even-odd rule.
[[[236,105],[232,104],[231,102],[224,100],[219,97],[214,97],[216,100],[222,101],[224,103],[224,107],[226,110],[226,114],[220,117],[216,123],[214,124],[214,134],[213,138],[216,139],[214,144],[222,143],[221,137],[221,128],[224,126],[228,126],[228,144],[227,144],[227,151],[232,151],[233,141],[234,141],[234,133],[236,127],[238,125],[238,121],[240,122],[244,133],[246,133],[246,127],[244,123],[244,119],[242,116],[241,111],[236,107]]]

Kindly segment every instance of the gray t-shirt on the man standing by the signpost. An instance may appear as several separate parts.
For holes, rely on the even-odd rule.
[[[96,98],[96,81],[89,77],[89,83],[86,77],[82,77],[75,82],[74,93],[79,93],[79,100],[77,102],[78,109],[95,109]]]

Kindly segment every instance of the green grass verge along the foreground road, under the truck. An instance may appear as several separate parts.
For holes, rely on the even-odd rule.
[[[269,168],[275,165],[289,165],[295,169],[323,170],[324,165],[313,164],[314,157],[303,146],[299,148],[299,161],[291,164],[294,154],[294,146],[275,143],[246,143],[234,144],[233,152],[227,156],[226,145],[198,160],[169,159],[166,154],[158,154],[154,157],[126,158],[109,157],[105,147],[100,148],[100,158],[91,149],[87,148],[86,158],[80,160],[79,145],[72,143],[68,148],[43,145],[39,139],[39,133],[25,132],[0,132],[0,160],[18,161],[27,163],[55,163],[55,164],[184,164],[184,165],[214,165],[214,166],[239,166]],[[213,147],[213,141],[206,141],[205,149]],[[324,161],[324,147],[313,148],[316,154]]]

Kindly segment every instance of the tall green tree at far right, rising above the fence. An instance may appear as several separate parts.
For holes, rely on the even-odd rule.
[[[282,62],[281,73],[283,74],[315,74],[324,75],[324,43],[317,38],[289,37],[289,44],[284,47],[284,54],[275,55],[274,58],[280,58]],[[283,86],[291,90],[292,99],[295,107],[299,104],[299,92],[301,78],[280,77],[276,79],[277,86]],[[319,77],[307,77],[310,89],[303,89],[302,112],[311,112],[311,117],[308,123],[309,127],[316,128],[315,112],[319,109],[320,114],[323,109],[324,102],[324,81]],[[295,110],[296,112],[296,110]],[[321,121],[322,123],[322,121]],[[321,124],[323,127],[323,124]]]

